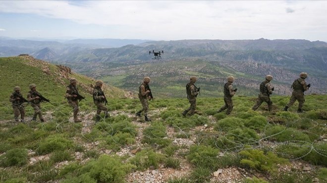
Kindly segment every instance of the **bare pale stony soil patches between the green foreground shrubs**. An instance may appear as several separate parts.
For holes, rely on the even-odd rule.
[[[152,111],[152,115],[154,113],[159,113],[160,111]],[[145,123],[143,119],[135,117],[134,114],[122,112],[122,111],[111,111],[111,116],[116,116],[118,114],[125,114],[128,115],[130,118],[133,119],[133,124],[136,125],[137,128],[137,137],[136,143],[130,146],[122,147],[118,152],[113,152],[110,149],[105,148],[98,148],[100,144],[99,141],[96,142],[85,142],[85,140],[81,139],[80,137],[75,137],[74,141],[78,144],[81,144],[85,147],[86,150],[91,149],[98,149],[100,154],[113,154],[115,153],[118,156],[128,155],[133,157],[138,151],[143,149],[146,144],[141,143],[141,139],[143,138],[143,130],[146,127],[150,126],[150,123]],[[89,133],[94,126],[94,121],[92,120],[95,113],[91,112],[88,114],[81,114],[83,116],[83,121],[81,125],[83,126],[81,134]],[[45,113],[45,119],[47,121],[51,120],[51,113]],[[214,118],[210,118],[212,123],[215,123]],[[10,121],[10,120],[9,120]],[[73,119],[70,118],[69,121],[73,123]],[[3,121],[2,121],[3,122]],[[210,131],[211,128],[207,126],[200,126],[196,127],[193,131],[190,132],[190,138],[176,138],[174,137],[175,131],[173,128],[167,128],[167,137],[172,139],[172,143],[178,146],[182,146],[179,150],[184,150],[185,152],[188,150],[188,147],[192,144],[196,143],[196,136],[192,136],[195,132],[198,131]],[[49,155],[42,155],[36,156],[33,150],[28,150],[29,154],[29,164],[35,164],[41,160],[49,159]],[[89,160],[89,158],[84,157],[83,152],[75,152],[74,154],[75,160],[85,163]],[[186,175],[189,175],[192,171],[192,165],[187,162],[184,157],[174,156],[174,158],[179,158],[181,161],[180,169],[172,169],[172,168],[165,168],[164,165],[161,165],[158,169],[154,169],[154,167],[150,167],[148,170],[145,171],[135,171],[128,174],[125,178],[126,182],[128,183],[165,183],[167,180],[172,178],[181,178]],[[55,165],[56,169],[63,167],[64,165],[68,164],[68,161],[59,162]],[[287,166],[280,166],[279,172],[291,171],[291,170],[298,170],[303,172],[310,172],[314,167],[312,165],[305,163],[300,160],[291,161],[290,165]],[[246,177],[258,177],[258,178],[265,178],[269,180],[269,177],[264,177],[264,175],[258,174],[257,172],[251,172],[239,167],[226,167],[223,169],[218,169],[216,172],[213,173],[212,179],[210,183],[239,183],[242,182]],[[319,180],[313,180],[314,182],[318,183]],[[57,183],[58,181],[50,181],[49,183]]]

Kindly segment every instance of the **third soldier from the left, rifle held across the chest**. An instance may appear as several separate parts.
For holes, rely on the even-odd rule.
[[[66,88],[66,98],[68,100],[68,104],[73,107],[73,116],[74,116],[74,122],[77,123],[77,122],[81,122],[82,120],[79,119],[77,117],[78,115],[78,111],[79,111],[79,108],[78,108],[78,99],[77,99],[77,93],[78,93],[78,89],[76,87],[76,79],[75,78],[71,78],[70,80],[70,85]]]

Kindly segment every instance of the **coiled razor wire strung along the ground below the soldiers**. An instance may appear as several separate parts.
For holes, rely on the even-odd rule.
[[[41,110],[42,110],[43,113],[48,113],[48,112],[51,113],[51,111],[57,111],[57,112],[59,112],[59,113],[61,114],[61,116],[65,117],[66,119],[67,119],[67,118],[69,119],[69,116],[67,116],[66,114],[60,112],[61,105],[59,105],[58,107],[54,107],[54,106],[52,105],[51,107],[48,106],[48,108],[49,108],[48,111],[43,111],[42,109],[41,109]],[[25,110],[28,110],[28,113],[34,113],[34,109],[33,109],[33,108],[25,107]],[[73,112],[73,109],[69,111],[69,114],[71,114],[72,112]],[[27,113],[27,112],[26,112],[26,113]],[[84,113],[85,115],[92,115],[92,114],[95,114],[95,111],[94,111],[94,110],[87,110],[87,111],[83,111],[83,113]],[[109,112],[109,113],[110,113],[110,112]],[[150,115],[151,115],[151,113],[152,113],[152,111],[150,111]],[[135,114],[133,114],[133,113],[127,113],[127,114],[129,114],[129,115],[135,115]],[[95,114],[95,115],[96,115],[96,114]],[[126,114],[124,114],[124,115],[126,115]],[[105,119],[104,117],[102,117],[102,116],[100,116],[100,117],[101,117],[101,120],[100,120],[100,121],[104,121],[104,122],[106,122],[106,119]],[[171,119],[174,120],[174,119],[176,119],[177,117],[178,117],[178,116],[171,116],[171,117],[169,117],[169,118],[167,118],[167,119],[165,119],[165,120],[168,120],[168,119],[170,119],[170,120],[171,120]],[[199,117],[200,117],[200,116],[199,116]],[[199,118],[199,117],[198,117],[198,118]],[[49,122],[54,122],[54,121],[55,121],[55,124],[56,124],[56,126],[55,126],[55,130],[56,130],[56,132],[58,132],[58,133],[62,133],[62,132],[64,131],[64,129],[63,129],[63,124],[65,124],[65,123],[67,123],[67,122],[69,122],[69,123],[71,124],[71,127],[74,128],[76,131],[79,129],[79,128],[77,128],[77,127],[82,127],[82,130],[81,130],[81,136],[82,136],[84,139],[86,139],[89,143],[92,143],[92,144],[96,145],[95,142],[94,142],[93,140],[91,140],[91,139],[89,139],[89,138],[87,138],[87,137],[85,136],[85,135],[87,134],[87,132],[86,132],[85,129],[88,128],[88,127],[90,127],[87,123],[86,123],[85,125],[82,125],[82,123],[74,123],[74,122],[71,122],[71,121],[69,121],[69,120],[67,121],[65,118],[64,118],[63,120],[61,120],[61,121],[56,121],[56,120],[54,120],[54,118],[50,117],[50,119],[47,119],[47,122],[49,123]],[[272,118],[272,120],[277,119],[277,118],[285,118],[285,117],[278,116],[278,117]],[[28,118],[27,118],[27,119],[28,119]],[[190,120],[190,119],[188,119],[188,120]],[[194,119],[194,120],[196,120],[196,119]],[[272,120],[267,120],[267,124],[266,124],[265,127],[264,127],[264,133],[265,133],[265,131],[266,131],[266,130],[271,126]],[[8,121],[9,121],[9,122],[12,122],[12,121],[14,121],[14,120],[8,120]],[[307,130],[303,130],[303,132],[305,132],[305,133],[311,133],[311,134],[313,134],[313,135],[317,135],[318,137],[320,137],[318,134],[314,134],[314,133],[312,133],[312,132],[309,132],[309,130],[311,130],[311,129],[313,129],[313,128],[317,128],[318,126],[322,126],[323,128],[325,128],[325,127],[327,127],[327,126],[324,125],[324,124],[319,124],[318,122],[315,122],[315,121],[312,121],[312,122],[315,123],[315,126],[309,128],[309,129],[307,129]],[[16,124],[15,122],[12,122],[12,123],[13,123],[13,124]],[[38,122],[38,123],[41,123],[41,122]],[[129,127],[129,126],[130,126],[130,125],[129,125],[130,123],[131,123],[131,122],[126,121],[126,122],[123,123],[122,125],[124,125],[124,126],[125,126],[125,129],[127,129],[131,134],[136,134],[136,136],[137,136],[138,131],[137,131],[137,130],[134,130],[134,128],[130,128],[130,127]],[[25,121],[25,124],[28,125],[28,126],[30,126],[30,124],[29,124],[28,122],[26,122],[26,121]],[[41,129],[45,130],[45,125],[46,125],[46,123],[41,123],[41,124],[42,124],[42,125],[41,125]],[[151,123],[150,123],[150,124],[151,124]],[[92,123],[91,126],[92,126],[92,125],[94,125],[94,124]],[[283,156],[287,156],[287,155],[289,155],[289,154],[287,154],[287,153],[283,153],[283,152],[278,152],[278,151],[275,150],[275,148],[278,147],[278,146],[280,146],[280,145],[289,145],[289,146],[293,146],[293,147],[307,148],[307,150],[308,150],[308,151],[304,152],[304,154],[302,154],[302,155],[299,156],[299,157],[289,158],[290,160],[302,159],[302,158],[304,158],[305,156],[309,155],[309,154],[310,154],[311,152],[313,152],[313,151],[316,152],[317,154],[321,155],[321,156],[327,157],[327,150],[324,150],[324,149],[318,149],[317,147],[315,147],[315,144],[319,142],[319,141],[317,141],[317,140],[315,140],[315,141],[312,142],[312,143],[307,142],[307,141],[303,141],[303,140],[287,140],[287,141],[283,141],[283,142],[272,142],[272,141],[267,141],[268,139],[270,139],[270,138],[272,138],[272,137],[274,137],[274,136],[278,136],[278,135],[284,133],[284,132],[289,128],[290,125],[291,125],[291,123],[288,122],[288,123],[286,123],[286,126],[285,126],[285,128],[284,128],[282,131],[280,131],[280,132],[278,132],[278,133],[276,133],[276,134],[272,134],[272,135],[267,136],[267,137],[261,137],[260,139],[247,138],[247,137],[239,136],[239,135],[237,135],[237,134],[224,133],[224,132],[222,132],[222,129],[220,129],[219,131],[217,131],[216,134],[206,134],[205,136],[206,136],[206,137],[212,137],[212,138],[215,138],[215,141],[214,141],[214,142],[215,142],[215,146],[216,146],[216,148],[219,149],[219,151],[222,153],[222,155],[223,155],[224,153],[237,153],[237,152],[239,152],[239,151],[241,151],[241,150],[248,150],[248,149],[262,149],[262,148],[265,148],[265,147],[267,148],[267,146],[268,146],[268,148],[269,148],[272,152],[274,152],[274,153],[276,153],[276,154],[283,155]],[[101,130],[102,130],[103,133],[105,133],[107,136],[111,137],[111,139],[112,139],[112,141],[113,141],[114,143],[116,143],[116,144],[119,145],[120,147],[123,147],[123,146],[124,146],[124,144],[120,144],[119,142],[117,142],[117,141],[113,138],[113,136],[115,135],[115,132],[114,132],[114,129],[113,129],[113,127],[112,127],[112,124],[110,124],[110,123],[108,123],[108,122],[106,122],[106,123],[98,123],[98,126],[101,128]],[[108,129],[108,127],[111,129],[111,130],[109,130],[111,133],[109,133],[108,130],[106,130],[106,129]],[[162,138],[162,139],[167,138],[167,137],[159,137],[159,136],[156,135],[156,134],[157,134],[156,132],[160,132],[160,134],[165,134],[165,135],[166,135],[166,132],[163,132],[163,131],[161,131],[161,130],[159,130],[159,129],[156,129],[156,128],[152,127],[151,125],[150,125],[149,127],[146,127],[146,128],[149,129],[150,134],[147,135],[147,134],[143,133],[143,136],[144,136],[145,138],[158,138],[158,139],[161,139],[161,138]],[[165,127],[165,128],[166,128],[166,127]],[[183,135],[185,135],[187,138],[189,138],[189,135],[188,135],[186,129],[181,129],[181,128],[178,127],[178,126],[174,126],[174,129],[175,129],[175,130],[178,130],[178,132],[176,132],[176,133],[183,134]],[[189,130],[189,129],[187,128],[187,130]],[[231,140],[231,139],[228,138],[228,137],[230,137],[230,136],[237,137],[237,138],[239,138],[239,139],[243,139],[242,141],[247,141],[247,142],[242,142],[242,141],[240,141],[240,140]],[[220,137],[220,139],[219,139],[218,137]],[[222,141],[222,139],[225,140],[225,142],[228,142],[228,143],[231,143],[231,144],[234,144],[234,145],[233,145],[232,147],[230,147],[230,145],[225,144],[224,141]],[[220,141],[218,141],[218,140],[220,140]],[[222,148],[221,145],[219,146],[219,145],[218,145],[218,142],[220,142],[224,148]],[[200,140],[200,141],[198,142],[198,145],[201,144],[201,143],[202,143],[202,140]],[[323,143],[324,143],[324,142],[323,142]],[[127,145],[127,146],[128,146],[128,145]]]

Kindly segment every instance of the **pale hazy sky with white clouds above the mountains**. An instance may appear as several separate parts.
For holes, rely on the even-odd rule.
[[[327,1],[1,0],[0,36],[327,41]]]

